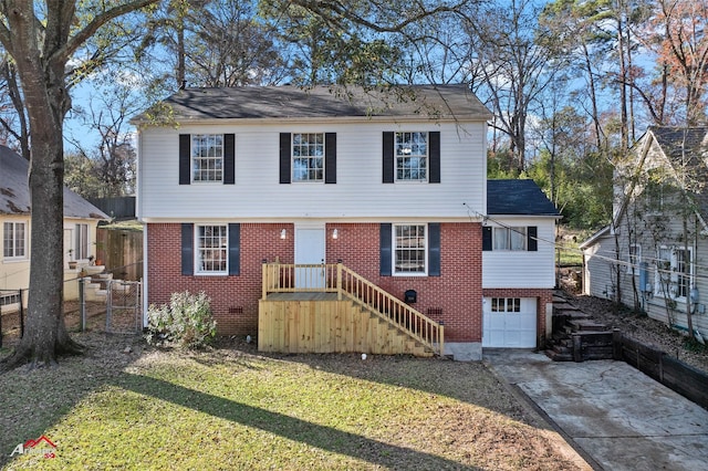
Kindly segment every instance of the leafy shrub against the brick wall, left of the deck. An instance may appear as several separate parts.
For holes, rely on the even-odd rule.
[[[175,344],[183,348],[201,348],[210,344],[217,333],[211,316],[211,300],[200,292],[173,293],[169,305],[150,305],[147,311],[148,344]]]

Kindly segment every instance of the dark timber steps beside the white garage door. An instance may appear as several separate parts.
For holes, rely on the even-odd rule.
[[[613,332],[563,295],[553,294],[553,334],[545,354],[555,362],[613,358]]]

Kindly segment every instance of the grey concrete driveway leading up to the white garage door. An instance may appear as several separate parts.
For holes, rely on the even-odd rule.
[[[594,469],[708,470],[708,411],[624,362],[509,349],[483,360]]]

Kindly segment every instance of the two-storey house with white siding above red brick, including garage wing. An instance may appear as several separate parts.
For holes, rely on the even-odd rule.
[[[481,357],[483,305],[494,316],[510,313],[490,321],[486,346],[543,345],[556,212],[546,199],[541,203],[532,182],[493,182],[488,191],[491,115],[467,86],[391,94],[188,88],[158,109],[168,109],[162,125],[155,113],[133,121],[146,305],[166,303],[174,292],[205,291],[220,334],[253,335],[272,291],[336,286],[357,296],[367,318],[400,328],[444,323],[445,353],[458,359]],[[488,230],[492,251],[483,252]],[[520,240],[517,230],[527,237]],[[350,271],[364,287],[341,283]],[[320,279],[308,281],[315,272]],[[514,324],[520,312],[533,312],[533,326],[525,317],[523,326]],[[310,321],[302,315],[304,325]],[[310,326],[288,342],[324,335],[319,329],[340,337],[347,331],[348,346],[326,348],[362,350],[383,335],[377,325]]]

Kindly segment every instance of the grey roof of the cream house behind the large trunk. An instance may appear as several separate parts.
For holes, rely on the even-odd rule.
[[[0,146],[0,214],[30,214],[30,163]],[[98,208],[64,187],[64,218],[111,219]]]

